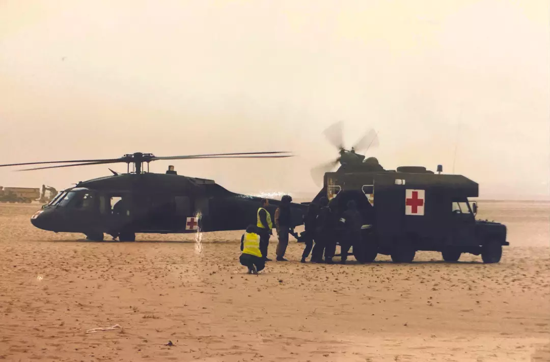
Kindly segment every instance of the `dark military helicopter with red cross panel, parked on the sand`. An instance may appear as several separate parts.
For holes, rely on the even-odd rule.
[[[43,161],[0,167],[63,164],[19,170],[29,171],[126,163],[126,174],[109,169],[113,175],[81,181],[59,192],[32,215],[31,223],[42,230],[84,233],[92,241],[102,241],[105,233],[120,241],[135,241],[136,233],[245,230],[249,224],[256,224],[260,207],[260,197],[230,192],[213,180],[178,175],[172,165],[165,174],[149,172],[152,161],[285,157],[292,155],[277,151],[157,157],[136,152],[112,159]],[[133,164],[132,171],[130,164]],[[280,201],[268,200],[267,210],[273,215]],[[291,203],[295,225],[301,225],[305,208],[305,205]]]

